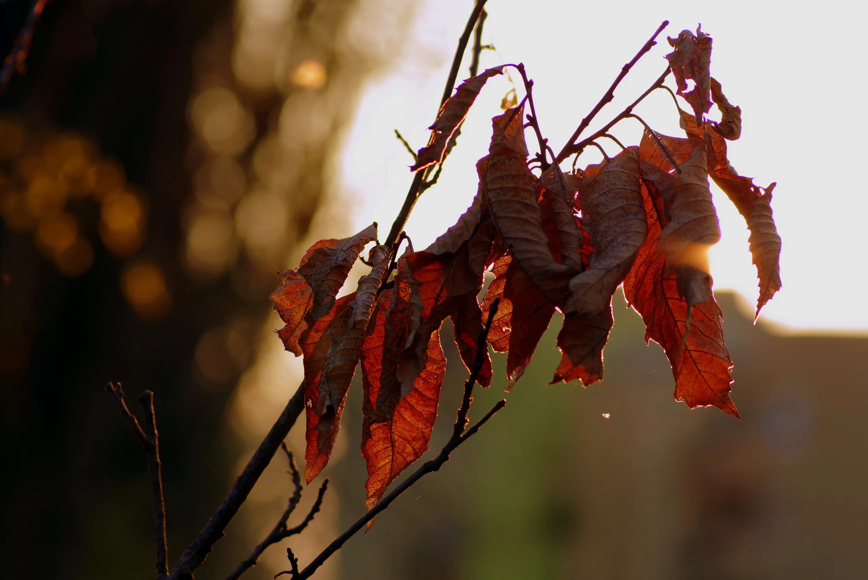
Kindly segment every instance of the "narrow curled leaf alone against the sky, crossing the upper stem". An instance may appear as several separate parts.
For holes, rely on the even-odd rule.
[[[449,144],[452,134],[455,133],[459,125],[464,121],[467,112],[476,101],[479,91],[482,90],[485,82],[492,76],[502,75],[503,65],[495,68],[489,68],[483,71],[482,74],[472,76],[466,81],[458,85],[455,94],[450,96],[444,102],[443,107],[437,114],[437,121],[431,127],[431,139],[428,140],[428,145],[419,149],[416,155],[416,163],[411,166],[411,171],[419,171],[427,166],[442,163],[446,146]]]

